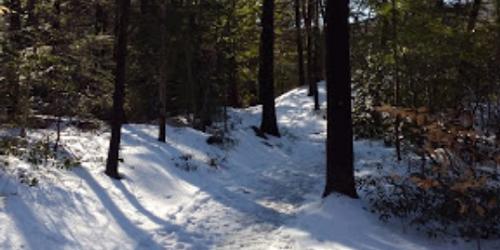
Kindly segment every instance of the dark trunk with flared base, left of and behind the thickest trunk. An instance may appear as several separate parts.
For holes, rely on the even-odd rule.
[[[264,0],[262,6],[259,91],[262,97],[263,133],[280,136],[274,107],[274,0]]]

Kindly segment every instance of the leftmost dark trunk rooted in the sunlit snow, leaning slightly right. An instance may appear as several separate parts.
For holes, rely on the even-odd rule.
[[[124,117],[123,102],[125,97],[125,71],[127,59],[127,28],[129,21],[130,0],[116,0],[115,20],[115,91],[113,93],[113,114],[111,118],[111,140],[109,143],[106,174],[120,179],[118,161],[121,140],[121,127]]]

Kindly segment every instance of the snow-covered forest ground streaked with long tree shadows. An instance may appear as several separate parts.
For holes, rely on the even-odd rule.
[[[11,157],[0,170],[0,249],[475,249],[383,224],[362,200],[321,200],[326,123],[312,107],[304,88],[277,98],[283,136],[269,140],[251,129],[259,107],[230,110],[226,149],[190,128],[168,127],[162,144],[154,126],[124,126],[122,181],[103,173],[109,133],[66,129],[81,167],[43,171],[36,187],[11,174],[27,163]],[[359,175],[393,162],[377,142],[355,152]]]

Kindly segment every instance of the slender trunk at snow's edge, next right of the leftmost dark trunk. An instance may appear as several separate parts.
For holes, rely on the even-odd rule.
[[[160,82],[159,82],[159,135],[158,141],[166,141],[166,115],[167,115],[167,6],[160,3]]]

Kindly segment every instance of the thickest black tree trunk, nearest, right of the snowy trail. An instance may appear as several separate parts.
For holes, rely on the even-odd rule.
[[[353,168],[349,0],[328,0],[326,9],[328,135],[323,197],[339,192],[357,198]]]

